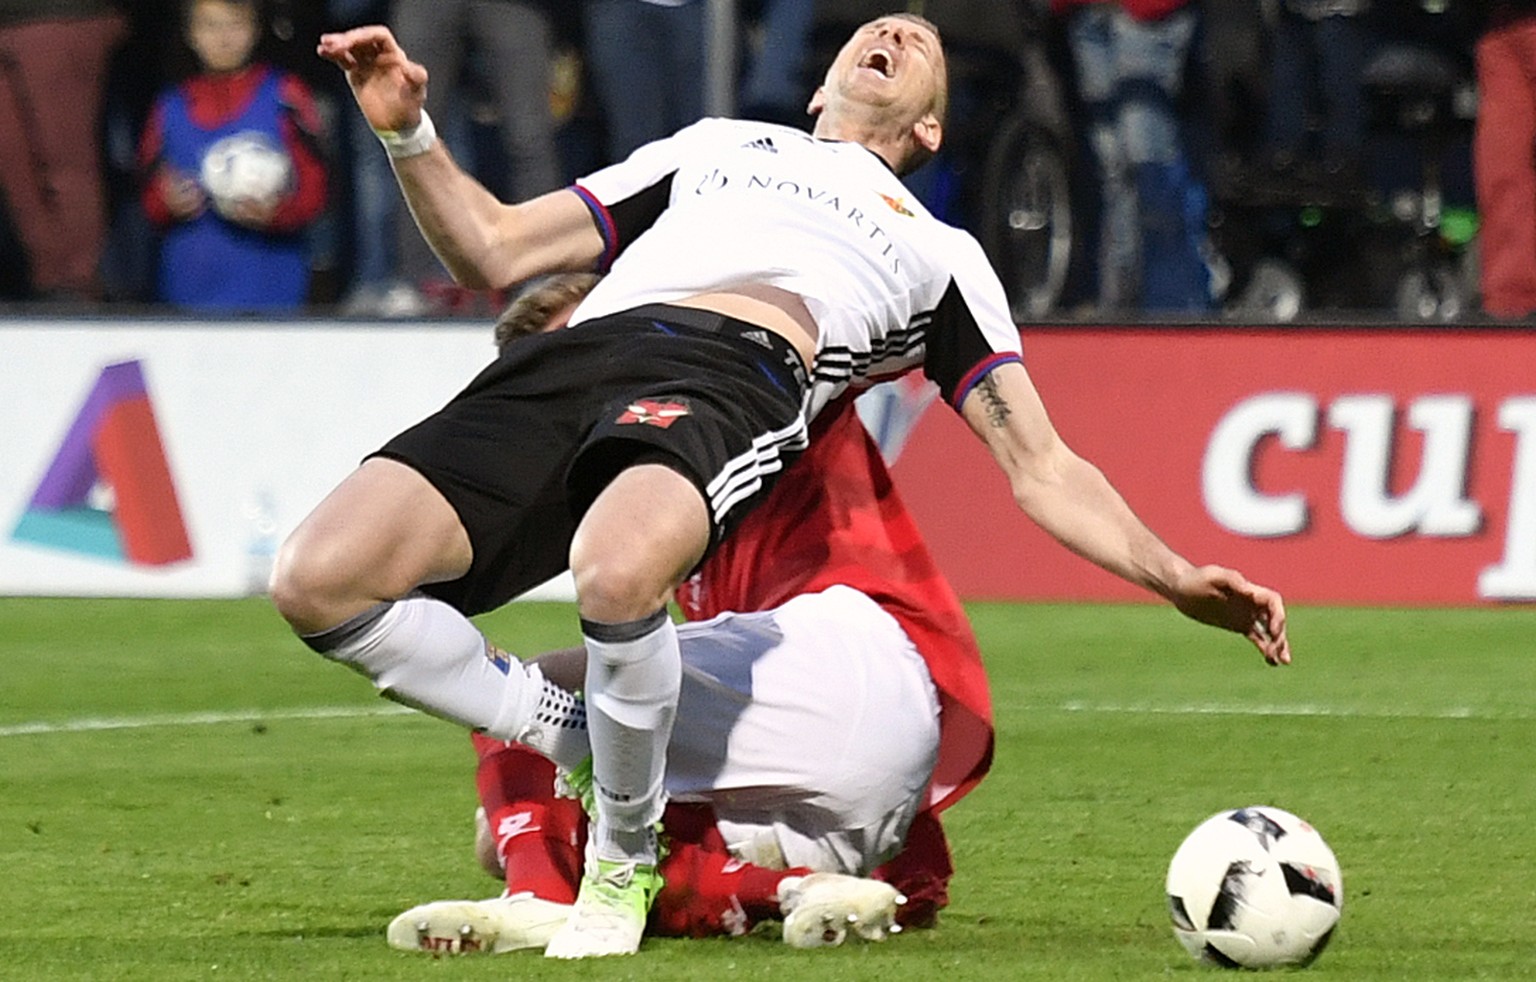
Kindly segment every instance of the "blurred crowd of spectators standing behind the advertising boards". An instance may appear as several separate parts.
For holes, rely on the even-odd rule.
[[[717,111],[722,63],[734,115],[809,129],[892,9],[951,61],[912,194],[1020,320],[1536,314],[1536,0],[0,0],[0,303],[492,315],[321,32],[390,26],[521,200]]]

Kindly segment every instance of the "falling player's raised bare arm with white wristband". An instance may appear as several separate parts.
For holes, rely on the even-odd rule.
[[[406,134],[421,126],[427,69],[406,55],[389,28],[324,34],[316,51],[347,74],[375,131]],[[416,226],[464,286],[502,287],[542,274],[587,270],[602,255],[602,235],[574,192],[507,204],[438,140],[407,157],[392,155],[390,163]]]

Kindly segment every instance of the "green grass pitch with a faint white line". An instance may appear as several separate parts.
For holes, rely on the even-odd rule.
[[[948,814],[937,930],[567,965],[384,945],[412,904],[496,891],[468,741],[264,601],[0,599],[0,979],[1201,979],[1163,874],[1246,804],[1310,819],[1344,868],[1309,976],[1536,974],[1536,610],[1299,609],[1289,668],[1157,605],[972,615],[997,762]],[[574,641],[561,604],[484,624],[524,653]]]

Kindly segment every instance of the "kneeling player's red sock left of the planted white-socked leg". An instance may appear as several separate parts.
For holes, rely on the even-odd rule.
[[[581,882],[581,802],[554,796],[554,765],[522,747],[473,735],[475,784],[507,868],[507,893],[556,904],[576,901]]]

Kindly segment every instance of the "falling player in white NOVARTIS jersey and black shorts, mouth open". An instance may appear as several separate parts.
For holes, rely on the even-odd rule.
[[[1068,549],[1290,659],[1278,593],[1160,541],[1057,435],[977,243],[899,174],[943,135],[934,26],[877,18],[811,98],[814,137],[705,120],[531,201],[498,201],[436,140],[427,72],[386,28],[324,35],[461,283],[607,269],[571,330],[518,346],[358,467],[278,555],[272,598],[392,698],[536,745],[564,696],[467,615],[576,581],[596,808],[551,957],[639,948],[676,715],[673,589],[806,444],[834,395],[923,364]],[[490,655],[490,656],[487,656]]]

